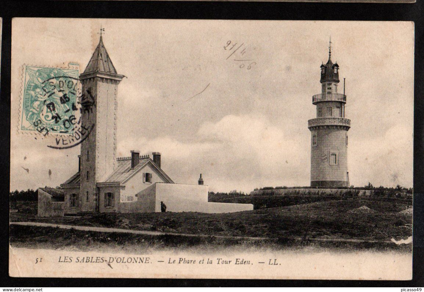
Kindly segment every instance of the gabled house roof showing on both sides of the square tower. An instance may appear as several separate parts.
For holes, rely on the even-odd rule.
[[[165,172],[160,169],[156,163],[153,162],[150,158],[141,159],[139,164],[131,169],[131,159],[128,160],[117,160],[116,168],[104,181],[101,182],[119,182],[120,184],[124,184],[128,179],[130,179],[134,174],[136,174],[140,169],[144,168],[145,165],[150,164],[156,171],[163,176],[165,182],[173,184],[174,182],[170,179]],[[77,172],[73,176],[70,177],[66,182],[62,185],[68,184],[79,184],[80,182],[80,173]]]

